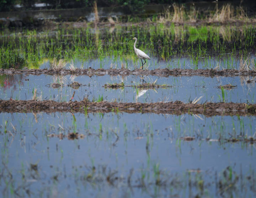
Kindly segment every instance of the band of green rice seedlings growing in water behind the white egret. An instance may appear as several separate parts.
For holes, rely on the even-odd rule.
[[[95,64],[97,67],[104,67],[108,57],[113,60],[114,64],[124,63],[123,60],[125,60],[127,64],[123,66],[129,67],[130,60],[135,64],[138,63],[135,55],[130,53],[133,46],[125,42],[127,38],[130,38],[130,33],[139,34],[138,38],[141,38],[142,43],[149,40],[142,44],[143,50],[150,49],[153,56],[159,56],[164,61],[169,61],[170,56],[184,54],[193,57],[194,69],[197,69],[197,60],[200,62],[205,56],[211,57],[212,60],[216,53],[232,52],[235,57],[236,51],[241,51],[247,56],[247,53],[255,46],[252,36],[255,34],[255,28],[250,26],[237,30],[234,26],[227,28],[199,26],[195,28],[188,25],[181,27],[161,23],[149,24],[143,30],[138,26],[120,27],[117,25],[116,28],[118,31],[115,33],[109,33],[105,29],[101,31],[96,29],[97,32],[95,32],[94,28],[86,27],[76,30],[63,30],[62,28],[58,29],[54,35],[49,35],[49,32],[46,31],[43,33],[33,32],[32,34],[37,34],[36,36],[31,36],[30,32],[24,32],[27,37],[17,34],[8,39],[7,36],[1,37],[0,42],[3,45],[0,53],[0,67],[38,68],[43,63],[53,60],[54,57],[57,60],[65,57],[66,61],[74,60],[76,57],[85,65],[88,65],[91,60],[99,59],[100,64]],[[121,32],[129,33],[121,34]],[[229,44],[231,40],[234,41],[232,46]],[[225,56],[217,55],[216,57],[223,58]],[[233,68],[233,61],[227,60],[225,60],[225,67]],[[157,65],[157,62],[154,64]],[[207,61],[204,67],[210,67],[209,64]],[[168,62],[166,67],[170,68],[170,66]]]

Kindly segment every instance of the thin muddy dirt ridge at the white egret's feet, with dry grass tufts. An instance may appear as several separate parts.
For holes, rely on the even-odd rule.
[[[238,69],[154,69],[154,70],[129,70],[129,69],[81,69],[77,68],[76,71],[70,69],[0,69],[0,74],[14,75],[14,74],[31,74],[31,75],[87,75],[89,77],[93,75],[155,75],[160,77],[168,76],[205,76],[205,77],[216,77],[216,76],[247,76],[256,75],[255,70],[238,70]]]

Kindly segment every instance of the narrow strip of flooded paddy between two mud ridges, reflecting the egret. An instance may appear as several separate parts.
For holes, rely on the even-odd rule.
[[[97,101],[117,102],[167,102],[182,101],[188,103],[195,98],[201,102],[239,102],[255,103],[256,87],[254,77],[157,77],[157,76],[50,76],[50,75],[2,75],[3,86],[0,98],[8,100],[31,100],[33,91],[37,89],[37,97],[43,100],[58,102],[69,101],[74,91],[74,100],[81,101],[84,97]],[[247,83],[253,79],[251,83]],[[143,83],[154,83],[162,87],[138,87]],[[80,86],[72,87],[78,82]],[[115,87],[113,84],[123,83]],[[221,89],[223,85],[233,85]],[[112,86],[112,87],[111,87]],[[137,87],[136,87],[137,86]],[[224,95],[223,95],[224,94]]]

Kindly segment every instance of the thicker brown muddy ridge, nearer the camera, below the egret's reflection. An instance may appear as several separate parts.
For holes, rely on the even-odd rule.
[[[202,104],[175,102],[154,103],[118,103],[118,102],[90,102],[82,101],[55,102],[51,100],[0,100],[0,112],[80,112],[80,113],[156,113],[156,114],[203,114],[207,117],[213,115],[254,115],[256,104],[246,103],[212,103]]]

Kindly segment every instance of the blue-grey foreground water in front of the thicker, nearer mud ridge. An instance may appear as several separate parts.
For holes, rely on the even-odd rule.
[[[127,192],[128,197],[148,197],[154,192],[150,182],[156,179],[156,166],[169,188],[158,186],[155,196],[165,197],[172,192],[171,180],[186,185],[189,171],[191,177],[197,175],[204,182],[215,182],[215,174],[222,178],[222,171],[230,166],[237,175],[245,177],[241,182],[246,182],[246,176],[254,174],[256,165],[255,145],[225,140],[230,136],[253,136],[256,122],[250,116],[1,113],[0,118],[0,189],[6,197],[113,197]],[[83,136],[75,140],[52,137],[70,132]],[[181,138],[186,136],[195,140]],[[32,165],[37,166],[36,170]],[[106,171],[102,172],[104,168]],[[127,178],[131,169],[133,187],[129,188]],[[193,172],[197,169],[199,173]],[[111,173],[113,178],[118,177],[113,184],[106,179]],[[147,191],[134,187],[143,174]],[[182,187],[179,182],[173,185]],[[17,194],[13,194],[14,190]],[[193,190],[196,195],[197,189]],[[210,197],[215,196],[215,184],[209,185],[207,191]],[[238,194],[247,196],[254,192],[247,189],[246,193]]]

